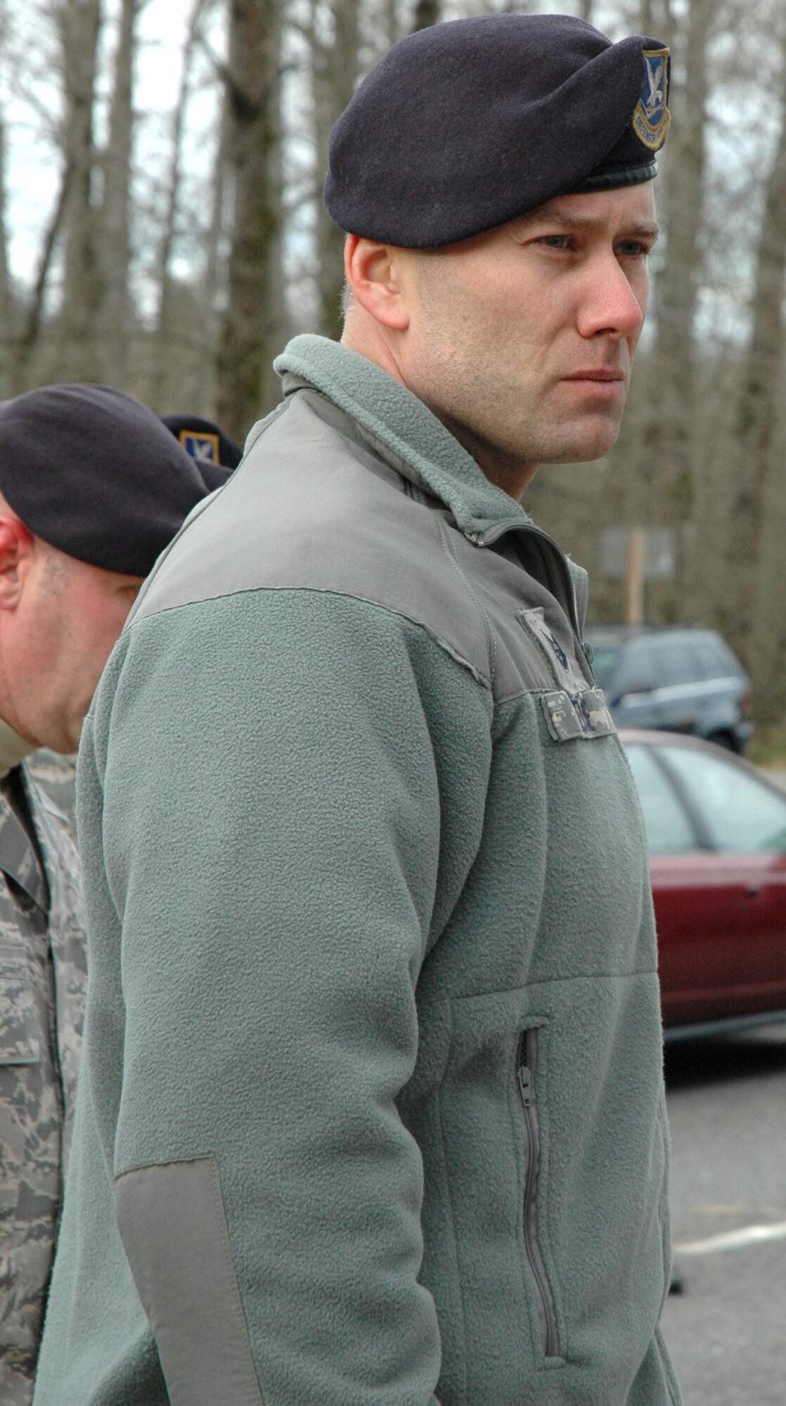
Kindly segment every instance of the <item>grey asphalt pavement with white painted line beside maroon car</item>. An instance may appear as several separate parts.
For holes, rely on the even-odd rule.
[[[685,1406],[786,1406],[786,1026],[666,1050]]]

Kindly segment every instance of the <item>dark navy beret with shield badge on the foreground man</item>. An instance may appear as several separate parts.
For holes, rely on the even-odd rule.
[[[394,44],[330,136],[340,229],[434,249],[555,195],[651,180],[669,52],[567,14],[450,20]]]

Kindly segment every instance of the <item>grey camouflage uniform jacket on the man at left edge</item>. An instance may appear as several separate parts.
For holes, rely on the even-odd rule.
[[[0,1402],[27,1406],[53,1256],[84,1004],[76,848],[18,766],[44,869],[0,794]]]

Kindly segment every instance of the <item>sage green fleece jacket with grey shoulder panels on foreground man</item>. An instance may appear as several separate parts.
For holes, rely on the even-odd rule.
[[[37,1406],[675,1406],[647,848],[585,579],[297,337],[86,723]]]

